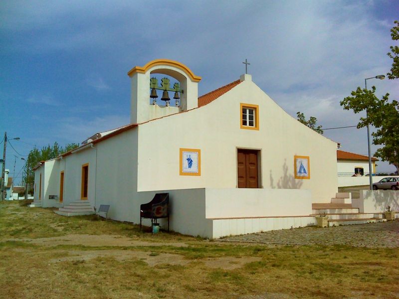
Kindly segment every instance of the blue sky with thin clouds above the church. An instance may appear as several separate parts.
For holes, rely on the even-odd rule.
[[[200,95],[238,79],[247,58],[253,81],[290,115],[315,116],[323,128],[354,126],[360,116],[339,102],[390,71],[398,11],[397,0],[3,0],[0,140],[4,131],[20,137],[11,144],[26,155],[33,145],[80,143],[128,124],[127,72],[157,58],[201,76]],[[398,82],[368,86],[399,99]],[[324,135],[367,154],[366,129]],[[14,154],[8,146],[11,172]],[[17,161],[15,172],[21,167]]]

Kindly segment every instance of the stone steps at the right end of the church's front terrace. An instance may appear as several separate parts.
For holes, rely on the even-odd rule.
[[[349,192],[338,192],[331,203],[313,203],[313,214],[328,216],[328,226],[352,225],[385,222],[380,214],[359,213],[358,208],[352,207],[352,196]]]

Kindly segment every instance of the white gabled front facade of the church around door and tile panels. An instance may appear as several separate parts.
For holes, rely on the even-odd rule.
[[[259,130],[240,128],[240,103],[258,105]],[[180,175],[180,149],[200,149],[200,176]],[[261,188],[310,189],[313,202],[330,202],[337,192],[337,144],[250,80],[204,107],[140,125],[138,190],[236,188],[237,149],[260,151]],[[295,178],[294,155],[309,156],[310,179]]]

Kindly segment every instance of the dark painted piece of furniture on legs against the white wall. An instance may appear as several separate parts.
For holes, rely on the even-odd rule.
[[[168,218],[169,232],[169,193],[156,193],[154,198],[140,205],[140,229],[143,218],[151,219],[151,228],[160,218]]]

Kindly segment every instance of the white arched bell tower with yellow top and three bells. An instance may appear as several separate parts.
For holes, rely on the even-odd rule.
[[[155,74],[172,77],[177,82],[168,77],[158,80],[154,77]],[[183,63],[157,59],[143,67],[135,66],[128,75],[132,82],[130,110],[132,124],[144,123],[198,107],[198,82],[201,77],[194,75]],[[165,106],[156,103],[160,94]]]

